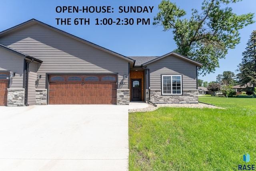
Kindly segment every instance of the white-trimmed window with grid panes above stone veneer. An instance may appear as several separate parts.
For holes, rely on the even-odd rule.
[[[182,76],[162,75],[162,95],[181,95]]]

